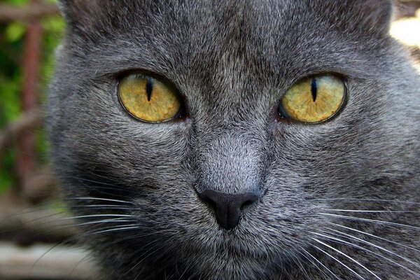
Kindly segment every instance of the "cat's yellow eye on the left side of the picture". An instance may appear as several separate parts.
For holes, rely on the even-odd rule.
[[[142,74],[120,80],[118,97],[128,113],[151,123],[177,118],[182,109],[181,99],[172,87]]]

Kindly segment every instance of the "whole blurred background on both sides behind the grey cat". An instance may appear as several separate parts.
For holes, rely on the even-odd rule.
[[[391,35],[419,62],[420,1],[397,6]],[[95,279],[60,202],[43,130],[64,26],[55,0],[0,0],[0,280]]]

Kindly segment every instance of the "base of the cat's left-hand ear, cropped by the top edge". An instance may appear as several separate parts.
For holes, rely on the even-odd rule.
[[[58,5],[69,27],[89,29],[97,24],[104,13],[101,0],[58,0]]]

